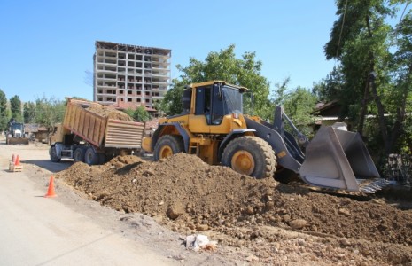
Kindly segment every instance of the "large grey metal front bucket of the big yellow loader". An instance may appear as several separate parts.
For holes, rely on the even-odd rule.
[[[299,174],[307,184],[350,192],[368,192],[361,179],[379,178],[361,135],[331,126],[319,129],[307,145]]]

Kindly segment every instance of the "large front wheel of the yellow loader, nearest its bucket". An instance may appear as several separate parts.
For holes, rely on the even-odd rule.
[[[247,176],[272,177],[276,156],[272,147],[260,137],[237,137],[224,149],[222,164]]]

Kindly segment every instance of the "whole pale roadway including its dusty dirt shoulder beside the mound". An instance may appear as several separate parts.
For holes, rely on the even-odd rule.
[[[179,235],[151,218],[101,207],[58,180],[58,197],[43,198],[50,176],[72,165],[51,163],[47,149],[0,138],[0,265],[231,264],[186,251]],[[12,154],[19,154],[22,172],[8,171]]]

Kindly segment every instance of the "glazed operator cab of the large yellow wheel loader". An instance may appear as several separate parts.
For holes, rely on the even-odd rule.
[[[245,88],[224,82],[209,82],[191,90],[196,90],[191,111],[196,116],[205,116],[207,125],[220,125],[224,115],[243,113],[242,93]]]

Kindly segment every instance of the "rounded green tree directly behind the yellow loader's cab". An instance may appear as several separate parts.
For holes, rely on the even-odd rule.
[[[185,85],[221,80],[248,88],[253,93],[255,114],[265,119],[271,117],[273,106],[268,100],[269,82],[260,75],[262,63],[255,58],[254,52],[245,52],[242,59],[237,59],[235,45],[232,44],[219,52],[210,52],[205,61],[190,58],[189,66],[177,65],[182,75],[172,81],[171,89],[159,104],[160,110],[168,115],[181,113]]]

